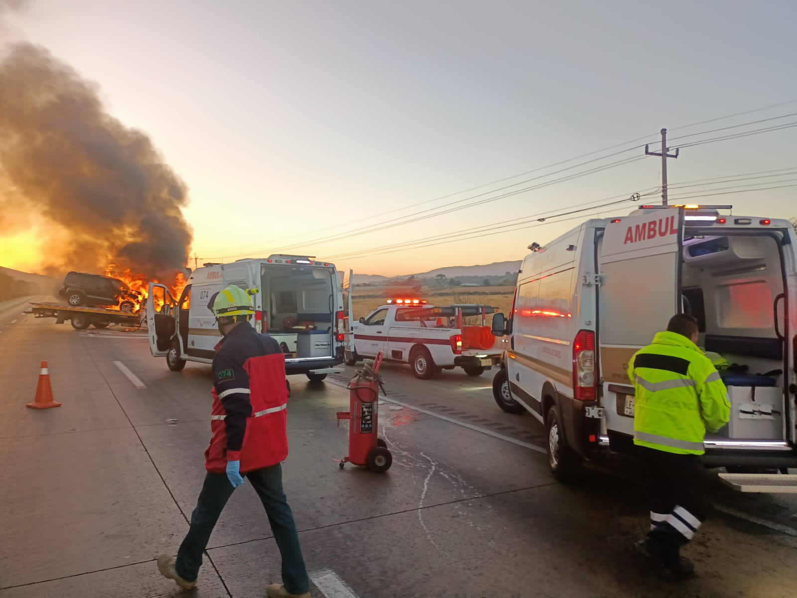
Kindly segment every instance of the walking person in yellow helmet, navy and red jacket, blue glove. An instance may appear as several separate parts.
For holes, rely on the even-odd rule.
[[[282,490],[281,462],[288,456],[285,354],[276,340],[249,324],[254,309],[244,289],[228,286],[210,298],[208,308],[223,338],[213,360],[207,474],[176,560],[161,555],[158,569],[180,588],[194,588],[210,533],[246,477],[265,507],[282,557],[284,583],[269,585],[267,596],[310,598],[299,535]]]

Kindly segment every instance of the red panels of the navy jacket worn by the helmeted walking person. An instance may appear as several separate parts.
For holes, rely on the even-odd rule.
[[[285,355],[250,357],[244,363],[249,375],[249,401],[252,415],[246,419],[241,447],[241,474],[277,465],[288,457],[288,388],[285,387]],[[213,438],[205,450],[205,469],[214,474],[226,473],[226,413],[216,388],[212,388],[213,410],[210,430]]]

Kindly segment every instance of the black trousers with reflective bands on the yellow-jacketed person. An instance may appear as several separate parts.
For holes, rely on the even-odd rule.
[[[650,512],[666,515],[664,521],[653,522],[648,542],[665,560],[677,558],[681,546],[709,516],[709,476],[697,454],[637,450],[646,469]]]

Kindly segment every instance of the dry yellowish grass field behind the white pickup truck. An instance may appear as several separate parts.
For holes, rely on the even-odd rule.
[[[359,320],[378,308],[385,305],[391,298],[383,293],[383,289],[370,287],[354,287],[352,309],[354,319]],[[515,293],[513,286],[489,287],[453,287],[451,289],[424,289],[421,293],[408,293],[406,297],[426,299],[430,305],[451,305],[453,303],[477,303],[480,305],[493,305],[498,311],[509,315],[512,309],[512,296]]]

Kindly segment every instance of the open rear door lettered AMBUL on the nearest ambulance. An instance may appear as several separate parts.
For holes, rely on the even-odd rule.
[[[634,434],[630,358],[681,312],[680,207],[642,209],[607,222],[596,241],[599,368],[608,431]]]

